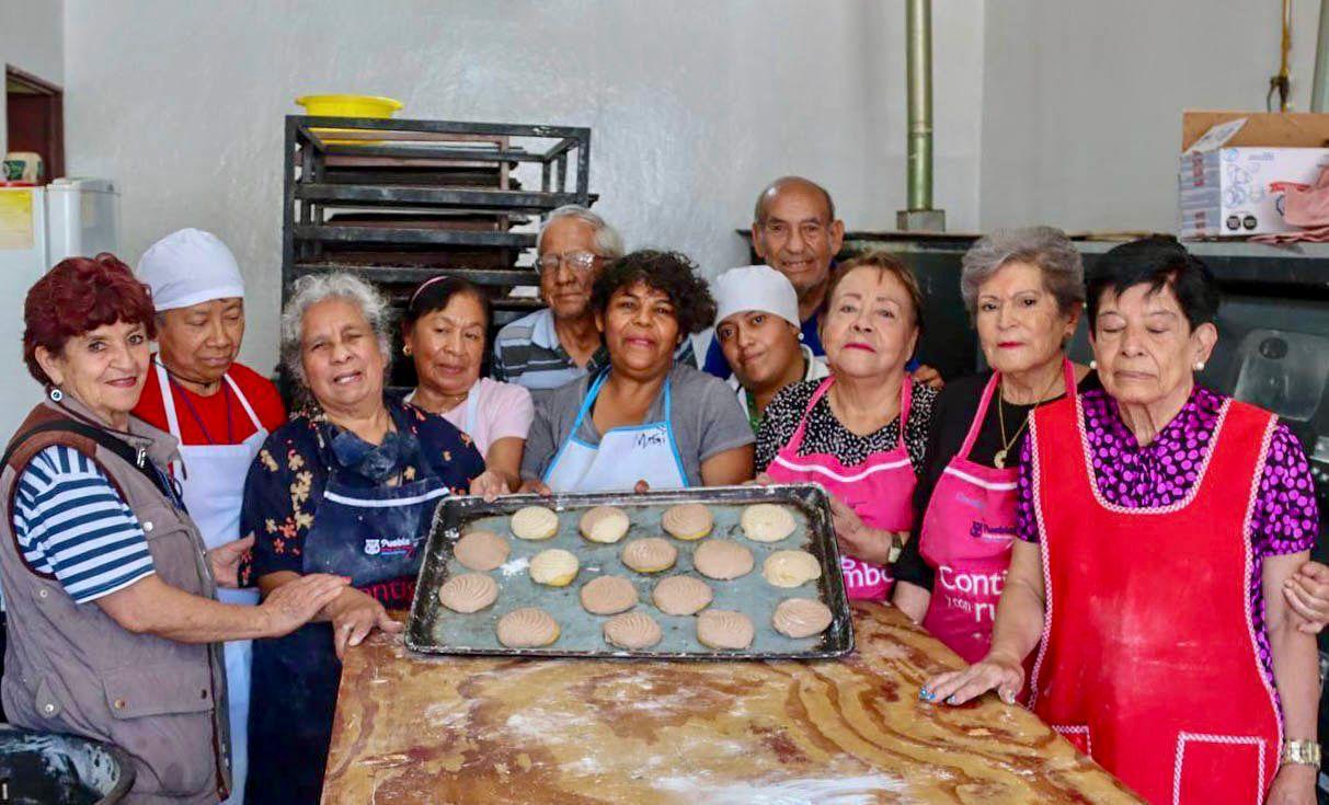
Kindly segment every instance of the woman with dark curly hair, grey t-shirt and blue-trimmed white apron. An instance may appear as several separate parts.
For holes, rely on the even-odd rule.
[[[526,441],[525,490],[610,492],[723,486],[752,478],[752,430],[724,381],[674,351],[715,317],[696,267],[637,251],[591,292],[609,368],[544,401]]]

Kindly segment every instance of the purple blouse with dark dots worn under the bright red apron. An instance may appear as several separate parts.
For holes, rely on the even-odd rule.
[[[1095,389],[1082,395],[1084,433],[1092,453],[1094,478],[1102,495],[1127,509],[1168,506],[1184,498],[1195,485],[1209,454],[1209,440],[1224,397],[1195,387],[1191,399],[1147,446],[1122,421],[1116,400]],[[1015,531],[1026,542],[1038,542],[1029,441],[1021,452],[1019,499]],[[1320,515],[1314,482],[1301,442],[1278,422],[1269,440],[1260,492],[1251,514],[1251,620],[1265,677],[1273,684],[1273,662],[1264,631],[1264,588],[1260,583],[1267,557],[1308,551],[1314,545]]]

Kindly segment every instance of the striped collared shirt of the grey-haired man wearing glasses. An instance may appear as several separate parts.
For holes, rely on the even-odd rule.
[[[674,353],[674,364],[696,365],[692,339],[683,339]],[[556,389],[598,375],[609,365],[609,351],[603,345],[590,356],[585,367],[578,367],[563,349],[554,329],[554,313],[548,307],[505,324],[494,337],[490,376],[504,383],[516,383],[533,392]]]

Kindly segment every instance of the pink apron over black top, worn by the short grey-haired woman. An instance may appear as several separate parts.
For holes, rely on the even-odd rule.
[[[1071,361],[1062,363],[1062,373],[1066,395],[1074,397]],[[999,384],[1001,375],[994,372],[965,444],[933,488],[918,534],[918,551],[937,577],[922,626],[966,663],[983,659],[991,647],[997,600],[1015,537],[1019,468],[997,469],[969,460]]]

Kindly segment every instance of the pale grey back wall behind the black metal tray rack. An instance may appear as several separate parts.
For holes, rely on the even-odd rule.
[[[8,0],[7,0],[8,1]],[[978,223],[982,4],[936,9],[937,198]],[[760,186],[824,182],[855,228],[904,203],[904,3],[727,0],[69,0],[70,173],[122,191],[122,256],[182,226],[221,235],[250,287],[245,360],[271,365],[282,116],[314,92],[423,118],[593,128],[598,210],[630,246],[715,270]]]

